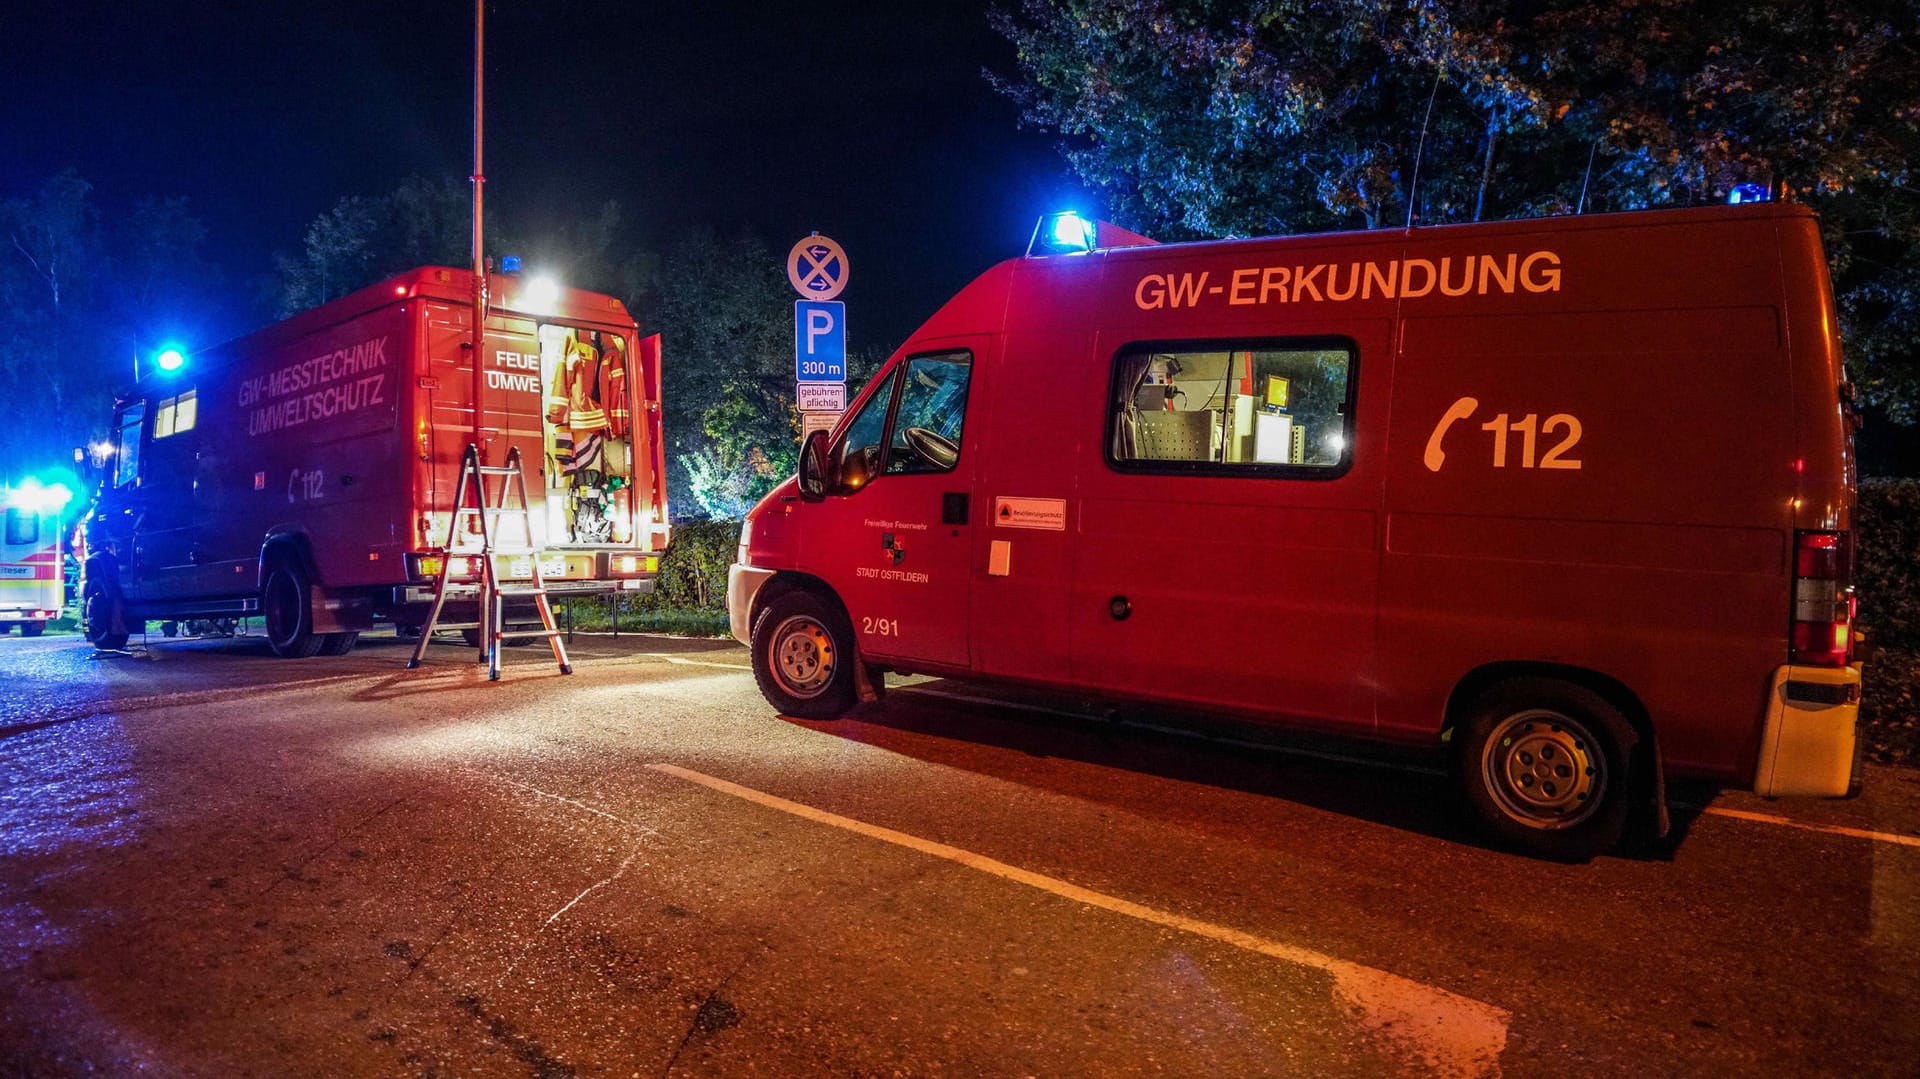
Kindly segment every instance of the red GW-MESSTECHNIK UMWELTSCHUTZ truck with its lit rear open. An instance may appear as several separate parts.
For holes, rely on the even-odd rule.
[[[472,442],[470,288],[470,271],[417,269],[121,396],[84,526],[88,639],[257,612],[275,653],[307,657],[374,620],[419,626]],[[482,453],[520,451],[547,589],[649,591],[668,520],[659,336],[609,296],[513,275],[490,290]],[[453,578],[470,563],[455,555]]]

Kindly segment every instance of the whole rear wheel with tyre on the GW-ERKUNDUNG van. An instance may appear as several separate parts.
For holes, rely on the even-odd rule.
[[[1494,835],[1567,862],[1620,841],[1638,735],[1603,697],[1551,678],[1503,682],[1475,701],[1463,735],[1463,793]]]

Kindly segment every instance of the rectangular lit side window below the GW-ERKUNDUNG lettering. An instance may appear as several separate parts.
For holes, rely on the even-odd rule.
[[[1338,474],[1352,444],[1346,342],[1135,346],[1114,363],[1108,461],[1140,472]]]

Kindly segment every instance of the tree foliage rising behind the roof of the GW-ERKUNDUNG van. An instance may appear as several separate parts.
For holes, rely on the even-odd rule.
[[[1023,0],[989,79],[1164,238],[1716,202],[1822,215],[1864,397],[1920,399],[1920,0]]]

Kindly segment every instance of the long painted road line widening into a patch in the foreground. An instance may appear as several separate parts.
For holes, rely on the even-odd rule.
[[[1332,977],[1334,996],[1354,1014],[1363,1029],[1371,1031],[1380,1041],[1404,1052],[1411,1052],[1417,1062],[1436,1067],[1442,1075],[1500,1075],[1500,1052],[1507,1046],[1507,1019],[1511,1018],[1511,1014],[1503,1008],[1496,1008],[1469,996],[1459,996],[1455,993],[1448,993],[1446,989],[1423,985],[1384,970],[1323,956],[1319,952],[1294,945],[1283,945],[1279,941],[1267,941],[1229,925],[1215,925],[1212,922],[1154,910],[1152,906],[1142,906],[1139,902],[1129,902],[1125,899],[1071,885],[1058,877],[1008,866],[1006,862],[996,862],[985,854],[962,851],[960,847],[948,847],[947,843],[920,839],[918,835],[908,835],[891,827],[879,827],[876,824],[866,824],[862,820],[852,820],[808,804],[791,803],[778,795],[755,791],[753,787],[741,787],[739,783],[730,783],[676,764],[655,762],[647,764],[647,768],[678,776],[689,783],[699,783],[707,789],[793,814],[814,824],[828,824],[845,831],[866,835],[868,839],[945,858],[948,862],[968,866],[970,870],[1023,883],[1073,902],[1083,902],[1087,906],[1096,906],[1100,910],[1123,914],[1154,925],[1181,929],[1196,937],[1206,937],[1210,941],[1219,941],[1223,945],[1233,945],[1269,958],[1325,971]]]

